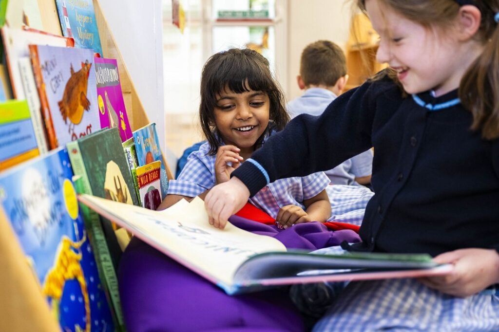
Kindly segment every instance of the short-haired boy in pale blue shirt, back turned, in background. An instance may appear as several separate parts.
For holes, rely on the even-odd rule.
[[[291,118],[302,113],[321,115],[343,91],[348,75],[343,50],[329,40],[308,44],[301,53],[298,87],[305,93],[287,104]],[[325,173],[331,184],[368,185],[371,182],[373,153],[367,150]]]

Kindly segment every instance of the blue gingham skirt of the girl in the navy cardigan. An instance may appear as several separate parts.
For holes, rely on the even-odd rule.
[[[331,247],[313,253],[341,251],[340,247]],[[314,313],[324,309],[314,306],[329,307],[314,325],[314,332],[499,331],[499,290],[496,288],[457,298],[430,289],[415,279],[356,281],[348,283],[342,291],[338,291],[338,287],[344,285],[335,284],[291,288],[291,298],[302,311]],[[313,299],[310,294],[314,295]],[[328,299],[328,303],[324,299]]]

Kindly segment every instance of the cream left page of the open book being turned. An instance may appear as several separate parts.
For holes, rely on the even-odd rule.
[[[250,256],[286,251],[278,240],[250,233],[231,223],[223,230],[213,227],[199,197],[190,203],[181,200],[163,211],[87,194],[79,195],[78,199],[224,289],[232,286],[235,271]]]

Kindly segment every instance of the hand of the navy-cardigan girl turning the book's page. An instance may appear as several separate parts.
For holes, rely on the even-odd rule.
[[[205,198],[208,222],[217,228],[224,229],[229,217],[241,210],[250,198],[250,190],[237,177],[217,184]]]

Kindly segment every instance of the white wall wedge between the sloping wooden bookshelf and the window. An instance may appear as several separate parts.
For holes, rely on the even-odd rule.
[[[161,0],[99,0],[150,122],[166,151]]]

